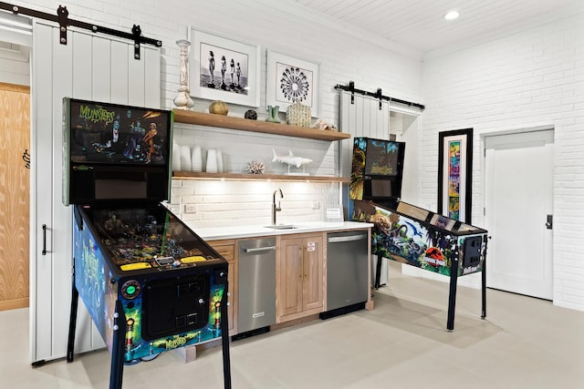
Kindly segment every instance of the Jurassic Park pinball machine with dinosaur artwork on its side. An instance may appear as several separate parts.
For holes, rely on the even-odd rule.
[[[482,272],[482,314],[486,316],[485,258],[488,233],[460,220],[401,201],[405,144],[354,138],[349,196],[352,219],[375,224],[371,254],[377,255],[373,287],[380,288],[381,259],[443,274],[450,278],[446,327],[454,330],[459,277]]]

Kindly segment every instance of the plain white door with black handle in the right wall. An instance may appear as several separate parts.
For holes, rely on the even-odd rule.
[[[486,285],[552,299],[553,130],[485,138]]]

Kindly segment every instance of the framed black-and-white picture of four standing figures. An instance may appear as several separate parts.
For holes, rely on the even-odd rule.
[[[259,107],[260,47],[189,28],[191,96]]]

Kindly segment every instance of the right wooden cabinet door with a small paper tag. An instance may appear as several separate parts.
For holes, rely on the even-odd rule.
[[[323,239],[321,235],[307,238],[304,246],[303,311],[323,307],[324,304],[324,269]]]

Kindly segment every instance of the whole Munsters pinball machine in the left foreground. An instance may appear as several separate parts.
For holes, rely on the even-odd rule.
[[[161,203],[169,198],[172,112],[64,99],[63,203],[74,206],[73,293],[124,363],[221,338],[230,387],[227,261]]]

